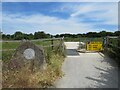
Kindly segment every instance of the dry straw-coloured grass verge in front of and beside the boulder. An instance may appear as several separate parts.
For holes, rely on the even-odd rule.
[[[49,88],[62,77],[61,65],[64,57],[52,54],[43,71],[31,72],[27,67],[13,71],[3,69],[3,88]]]

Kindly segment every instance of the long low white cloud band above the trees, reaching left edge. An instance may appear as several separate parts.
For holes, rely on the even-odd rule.
[[[45,32],[56,34],[64,32],[83,33],[93,31],[90,25],[78,23],[73,18],[64,20],[56,17],[44,16],[41,14],[22,16],[20,18],[16,18],[16,16],[18,15],[3,14],[3,32],[8,32],[6,30],[13,30],[11,31],[12,33],[16,30],[22,30],[30,33],[42,29]]]

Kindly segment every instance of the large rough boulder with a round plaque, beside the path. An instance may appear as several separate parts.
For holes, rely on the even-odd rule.
[[[43,64],[45,64],[44,50],[29,41],[25,41],[16,49],[10,62],[10,68],[27,66],[31,69],[39,69]]]

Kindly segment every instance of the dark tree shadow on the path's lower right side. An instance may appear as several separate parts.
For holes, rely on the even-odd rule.
[[[109,67],[107,69],[103,69],[101,67],[94,66],[95,69],[100,71],[99,78],[95,77],[86,77],[86,79],[96,81],[98,88],[117,88],[119,85],[119,69],[117,64],[112,59],[106,59],[104,58],[104,61],[101,63],[107,62],[112,67]],[[114,83],[113,83],[114,82]]]

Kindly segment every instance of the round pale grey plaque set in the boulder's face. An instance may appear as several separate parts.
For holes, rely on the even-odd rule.
[[[35,51],[31,48],[26,49],[23,54],[26,59],[34,59],[35,57]]]

